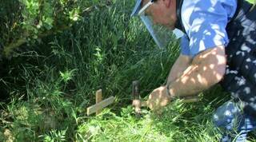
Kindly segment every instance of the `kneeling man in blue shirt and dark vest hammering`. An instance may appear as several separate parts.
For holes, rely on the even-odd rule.
[[[133,15],[157,44],[149,19],[185,34],[167,83],[150,93],[149,107],[162,108],[221,82],[232,99],[217,109],[214,123],[224,128],[222,141],[245,141],[256,128],[255,8],[244,0],[137,0]]]

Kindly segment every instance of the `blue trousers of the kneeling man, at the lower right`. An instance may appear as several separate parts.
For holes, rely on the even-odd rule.
[[[222,142],[245,142],[247,133],[256,129],[256,118],[242,112],[238,103],[233,101],[217,108],[213,120],[222,133]]]

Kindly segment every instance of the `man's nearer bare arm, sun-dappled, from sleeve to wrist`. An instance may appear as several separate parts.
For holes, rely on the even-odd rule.
[[[226,69],[224,45],[207,49],[194,57],[191,65],[168,86],[173,97],[200,93],[222,80]]]

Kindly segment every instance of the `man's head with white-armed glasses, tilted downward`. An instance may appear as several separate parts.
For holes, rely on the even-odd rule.
[[[174,30],[176,17],[176,0],[137,0],[132,15],[146,15],[154,25],[162,25]]]

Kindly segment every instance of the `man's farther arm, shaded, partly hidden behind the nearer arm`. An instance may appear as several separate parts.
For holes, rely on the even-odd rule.
[[[183,71],[191,64],[192,58],[180,54],[174,65],[170,69],[169,77],[167,78],[167,85],[180,77]]]

